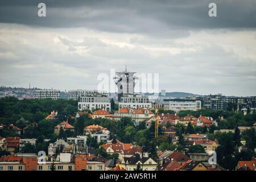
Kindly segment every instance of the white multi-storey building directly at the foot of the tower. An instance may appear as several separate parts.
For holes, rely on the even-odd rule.
[[[118,104],[119,109],[129,107],[132,109],[147,108],[151,109],[152,104],[148,100],[148,97],[139,94],[126,94],[121,97],[121,101]]]

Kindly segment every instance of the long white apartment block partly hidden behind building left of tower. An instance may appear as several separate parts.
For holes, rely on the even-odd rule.
[[[81,96],[97,96],[97,95],[108,97],[108,92],[103,90],[68,90],[69,100],[79,100]]]

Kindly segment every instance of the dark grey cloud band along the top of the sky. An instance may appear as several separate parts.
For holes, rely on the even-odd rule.
[[[109,32],[172,35],[171,30],[197,28],[255,28],[254,0],[185,1],[44,1],[47,17],[37,16],[42,1],[0,2],[0,22],[43,27],[86,27]],[[210,2],[217,17],[208,16]],[[176,32],[177,34],[177,32]],[[180,36],[185,33],[180,34]],[[179,34],[177,34],[179,36]]]

